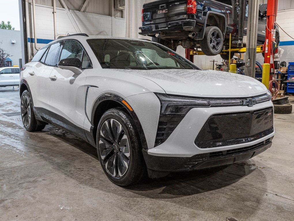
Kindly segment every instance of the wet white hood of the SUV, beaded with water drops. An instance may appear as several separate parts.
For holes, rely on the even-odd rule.
[[[252,77],[213,70],[119,70],[147,78],[167,94],[195,97],[250,97],[267,92]]]

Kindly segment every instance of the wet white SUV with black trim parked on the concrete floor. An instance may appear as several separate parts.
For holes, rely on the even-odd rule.
[[[273,104],[257,80],[201,70],[151,41],[77,34],[41,48],[21,71],[27,131],[52,124],[97,148],[126,186],[247,160],[268,149]]]

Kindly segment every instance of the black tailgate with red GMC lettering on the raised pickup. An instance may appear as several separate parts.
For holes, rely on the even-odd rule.
[[[168,22],[187,19],[187,0],[159,0],[143,4],[142,26],[156,24],[166,28]]]

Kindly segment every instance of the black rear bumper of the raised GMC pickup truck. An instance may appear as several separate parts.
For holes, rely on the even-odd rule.
[[[158,25],[141,26],[139,29],[140,35],[158,34],[159,32],[173,32],[173,31],[193,31],[195,28],[195,20],[181,20],[168,22],[166,28],[158,28]]]

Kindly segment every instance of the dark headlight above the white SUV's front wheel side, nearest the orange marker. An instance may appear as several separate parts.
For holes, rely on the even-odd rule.
[[[161,102],[161,114],[186,115],[193,107],[209,107],[206,99],[156,93]]]

